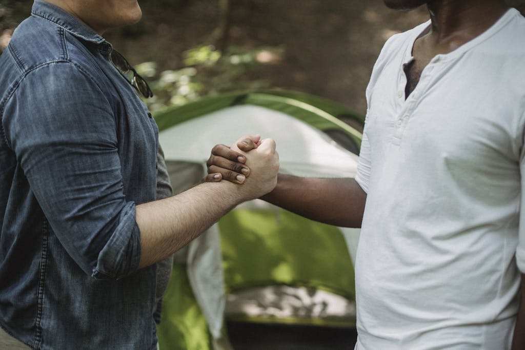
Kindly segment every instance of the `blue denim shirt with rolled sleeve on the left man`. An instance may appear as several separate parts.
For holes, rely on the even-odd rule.
[[[158,129],[112,47],[41,0],[0,57],[0,325],[36,349],[153,349]]]

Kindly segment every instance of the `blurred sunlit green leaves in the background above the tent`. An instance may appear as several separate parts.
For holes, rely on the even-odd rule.
[[[154,97],[144,102],[154,112],[220,92],[267,88],[267,80],[253,76],[262,65],[279,60],[282,53],[275,47],[230,47],[222,54],[213,46],[202,45],[183,53],[184,66],[179,69],[158,71],[155,62],[140,63],[135,69],[153,90]]]

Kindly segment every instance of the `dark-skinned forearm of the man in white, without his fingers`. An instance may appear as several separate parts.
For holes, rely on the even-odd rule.
[[[361,227],[366,193],[352,178],[279,174],[276,188],[261,199],[325,224]]]

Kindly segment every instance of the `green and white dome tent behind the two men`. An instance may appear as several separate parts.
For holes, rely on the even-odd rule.
[[[222,94],[155,119],[175,193],[201,180],[215,144],[244,134],[276,140],[282,173],[353,177],[363,123],[337,103],[290,91]],[[258,199],[237,206],[177,252],[161,350],[230,348],[224,317],[353,326],[358,237]]]

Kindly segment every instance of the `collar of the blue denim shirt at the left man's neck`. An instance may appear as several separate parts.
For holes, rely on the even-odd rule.
[[[41,17],[56,23],[67,30],[72,35],[95,44],[102,44],[106,41],[103,37],[95,33],[93,29],[82,23],[77,17],[66,12],[58,6],[51,5],[44,0],[35,0],[31,15]]]

